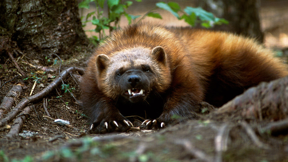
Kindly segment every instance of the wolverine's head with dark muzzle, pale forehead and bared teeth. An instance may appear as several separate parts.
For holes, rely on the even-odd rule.
[[[99,89],[107,97],[122,95],[132,103],[142,102],[150,92],[164,92],[170,85],[167,56],[160,46],[135,47],[96,58]]]

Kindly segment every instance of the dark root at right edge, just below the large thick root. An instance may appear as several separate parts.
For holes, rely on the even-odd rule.
[[[288,120],[282,120],[277,122],[271,122],[265,127],[260,128],[259,133],[287,133],[288,131]]]

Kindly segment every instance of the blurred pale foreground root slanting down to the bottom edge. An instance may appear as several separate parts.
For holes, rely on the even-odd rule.
[[[186,152],[188,152],[195,158],[201,159],[203,161],[208,161],[208,162],[213,161],[213,157],[206,155],[201,150],[195,148],[189,140],[176,140],[174,143],[178,145],[182,145],[185,148]]]

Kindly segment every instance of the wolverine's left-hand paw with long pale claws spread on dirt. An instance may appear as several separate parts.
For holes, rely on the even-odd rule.
[[[89,133],[110,133],[110,132],[125,132],[128,131],[133,124],[126,118],[118,120],[102,120],[97,122],[96,120],[90,125]]]

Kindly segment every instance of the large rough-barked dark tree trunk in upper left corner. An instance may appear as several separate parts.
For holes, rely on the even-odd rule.
[[[45,56],[67,58],[88,44],[75,0],[1,0],[0,8],[2,54],[16,47],[45,63]]]

